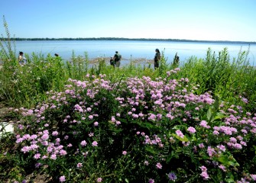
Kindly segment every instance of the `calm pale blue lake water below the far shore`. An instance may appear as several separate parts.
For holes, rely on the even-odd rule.
[[[248,50],[249,45],[245,43],[195,43],[195,42],[173,42],[173,41],[140,41],[140,40],[29,40],[16,41],[16,51],[24,53],[41,53],[47,56],[50,53],[58,53],[63,59],[70,59],[74,52],[76,56],[84,56],[88,53],[90,59],[96,57],[110,57],[118,50],[125,60],[130,59],[153,59],[154,50],[164,50],[168,57],[168,63],[173,61],[175,53],[180,56],[181,62],[186,62],[190,56],[205,58],[210,47],[218,53],[225,47],[228,48],[230,58],[237,57],[239,50]],[[251,65],[255,65],[256,44],[250,45],[248,55]],[[126,61],[127,62],[127,61]],[[124,62],[125,63],[125,62]],[[123,63],[123,64],[124,64]]]

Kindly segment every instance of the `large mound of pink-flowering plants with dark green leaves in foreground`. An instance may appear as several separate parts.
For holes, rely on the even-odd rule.
[[[255,114],[194,95],[188,79],[69,79],[22,114],[21,159],[53,182],[255,180]],[[198,86],[197,86],[198,87]]]

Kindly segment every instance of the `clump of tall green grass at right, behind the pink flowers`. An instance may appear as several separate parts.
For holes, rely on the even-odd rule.
[[[244,97],[252,102],[248,107],[254,111],[256,69],[249,63],[249,51],[240,50],[238,57],[231,59],[227,48],[217,54],[209,48],[204,59],[191,56],[180,75],[199,85],[199,94],[211,91],[231,102]]]

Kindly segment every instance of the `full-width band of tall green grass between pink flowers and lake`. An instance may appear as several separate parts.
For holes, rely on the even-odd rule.
[[[213,95],[219,95],[222,100],[235,100],[234,96],[241,95],[250,101],[255,101],[253,88],[256,83],[256,72],[255,67],[250,66],[247,55],[248,51],[241,51],[237,58],[230,59],[227,49],[219,53],[212,53],[209,49],[206,58],[191,56],[190,59],[182,60],[177,65],[168,61],[163,53],[160,68],[155,71],[151,59],[141,58],[132,59],[127,65],[122,66],[122,69],[115,69],[115,72],[109,66],[109,58],[89,59],[88,56],[72,56],[70,62],[66,62],[61,57],[33,54],[26,56],[28,58],[26,65],[20,66],[16,58],[10,59],[10,56],[2,55],[5,64],[2,65],[4,68],[1,72],[0,96],[11,105],[33,103],[36,101],[35,98],[43,97],[47,91],[62,89],[69,78],[83,80],[86,79],[87,74],[106,74],[113,80],[143,75],[156,79],[165,77],[168,70],[179,66],[181,69],[179,76],[200,85],[199,90],[196,91],[198,94],[211,91]],[[90,64],[92,65],[89,66]],[[34,85],[37,87],[35,88]]]

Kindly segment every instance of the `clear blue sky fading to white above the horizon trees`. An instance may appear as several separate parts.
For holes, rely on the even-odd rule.
[[[4,0],[0,14],[24,38],[256,41],[255,10],[256,0]]]

